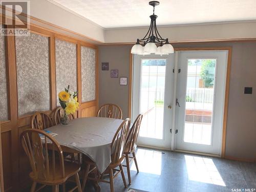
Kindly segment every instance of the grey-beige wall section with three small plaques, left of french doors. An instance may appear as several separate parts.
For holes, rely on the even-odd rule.
[[[120,86],[120,77],[129,78],[129,58],[131,46],[99,46],[99,106],[115,103],[128,117],[129,87]],[[109,62],[109,71],[101,71],[101,62]],[[118,69],[118,78],[111,78],[112,69]],[[129,79],[127,79],[129,81]]]

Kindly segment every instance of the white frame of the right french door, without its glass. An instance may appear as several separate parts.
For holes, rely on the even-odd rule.
[[[225,87],[226,85],[223,84],[223,81],[226,79],[226,70],[227,70],[227,51],[183,51],[179,57],[179,63],[182,68],[182,72],[179,78],[179,82],[181,83],[177,92],[177,98],[179,98],[181,103],[181,108],[178,108],[178,118],[177,119],[177,128],[179,133],[176,135],[176,147],[178,150],[185,150],[185,151],[196,151],[200,153],[209,153],[214,155],[221,155],[221,146],[222,146],[222,124],[223,124],[223,115],[224,115],[224,106],[225,106]],[[211,144],[204,145],[204,144],[196,144],[196,143],[186,143],[183,141],[184,137],[184,122],[185,122],[185,93],[184,90],[186,89],[186,73],[187,73],[187,59],[189,58],[218,58],[217,59],[217,66],[216,66],[216,87],[214,93],[214,109],[212,114],[212,127],[211,129]],[[185,87],[184,87],[185,86]],[[216,96],[216,94],[218,96]],[[222,97],[223,96],[223,97]],[[216,109],[215,109],[216,108]],[[218,114],[216,115],[216,111]]]

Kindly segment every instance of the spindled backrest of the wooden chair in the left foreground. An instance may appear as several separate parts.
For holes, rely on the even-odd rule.
[[[29,158],[32,172],[37,179],[55,179],[57,167],[61,168],[62,178],[65,177],[63,153],[60,145],[52,136],[41,130],[28,129],[20,135],[20,141]],[[52,154],[49,156],[50,149]],[[59,162],[57,162],[58,160]],[[52,163],[51,166],[50,162]],[[50,178],[50,175],[53,178]]]

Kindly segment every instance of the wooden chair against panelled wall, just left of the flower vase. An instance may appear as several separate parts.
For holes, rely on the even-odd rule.
[[[52,119],[44,112],[36,112],[32,116],[31,127],[32,129],[44,130],[53,126]]]

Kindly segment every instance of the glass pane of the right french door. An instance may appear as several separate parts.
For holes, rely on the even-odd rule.
[[[217,59],[188,59],[184,142],[211,145]]]

